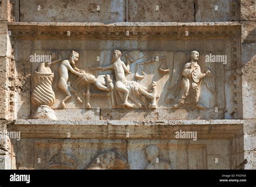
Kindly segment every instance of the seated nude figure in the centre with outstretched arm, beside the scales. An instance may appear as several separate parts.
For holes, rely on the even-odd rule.
[[[117,92],[122,93],[123,95],[123,100],[122,100],[122,107],[128,107],[132,108],[134,107],[134,104],[131,104],[128,102],[128,97],[129,93],[131,92],[131,89],[136,88],[138,92],[145,96],[146,98],[149,98],[151,100],[154,100],[154,104],[151,105],[152,108],[156,107],[156,103],[154,98],[156,98],[156,94],[154,93],[156,89],[152,89],[153,87],[156,87],[156,82],[153,82],[149,88],[143,87],[143,85],[140,85],[137,82],[134,81],[127,81],[125,78],[125,73],[130,74],[130,66],[125,63],[120,59],[122,56],[122,53],[118,50],[114,50],[113,55],[112,55],[112,63],[108,66],[104,67],[97,67],[96,69],[101,69],[101,70],[107,70],[107,69],[113,69],[114,74],[116,76],[116,83],[114,85],[115,89]],[[153,90],[151,93],[149,90]]]

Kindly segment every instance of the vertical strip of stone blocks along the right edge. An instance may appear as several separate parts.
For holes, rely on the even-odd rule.
[[[256,169],[256,24],[255,2],[241,1],[241,22],[242,25],[242,100],[244,125],[244,159],[245,169]]]

